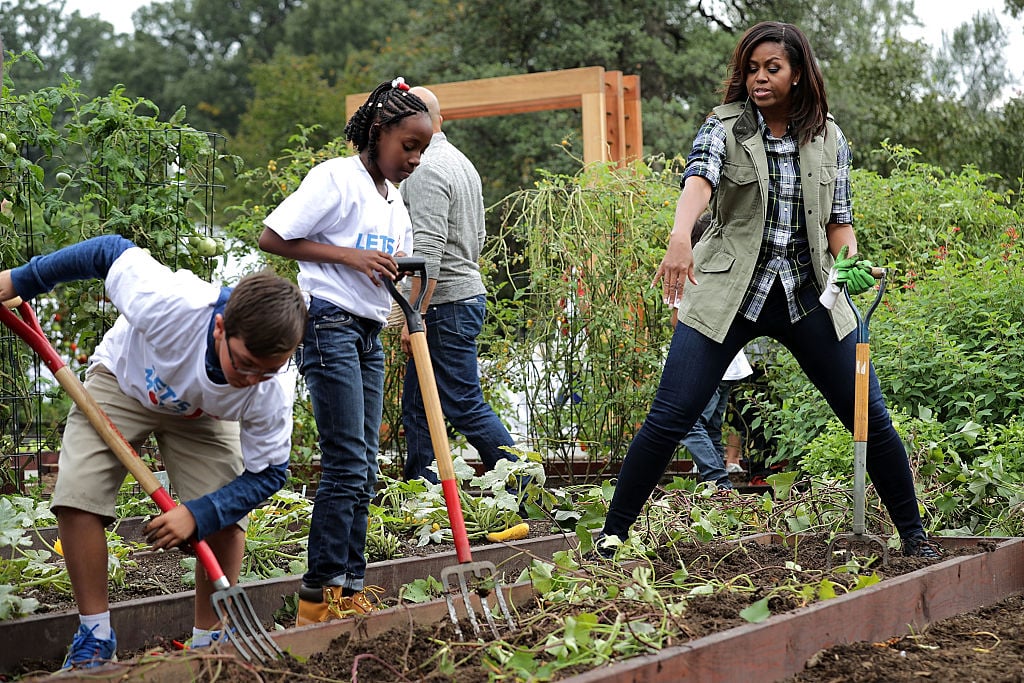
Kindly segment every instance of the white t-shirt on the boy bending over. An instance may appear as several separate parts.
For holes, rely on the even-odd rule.
[[[121,315],[91,360],[113,372],[126,395],[183,418],[206,414],[239,422],[250,472],[288,461],[294,372],[241,389],[207,377],[207,336],[219,286],[187,270],[172,271],[132,248],[111,266],[106,293]]]

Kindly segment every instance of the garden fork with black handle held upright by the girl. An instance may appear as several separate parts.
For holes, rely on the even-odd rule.
[[[420,273],[420,291],[416,301],[410,304],[409,300],[402,296],[394,283],[385,278],[384,284],[387,286],[391,296],[398,302],[402,312],[406,314],[406,322],[409,325],[410,345],[413,347],[413,360],[416,362],[416,374],[420,380],[420,391],[423,393],[423,404],[427,414],[427,426],[430,430],[430,442],[434,450],[434,458],[437,461],[437,472],[440,474],[441,489],[444,493],[444,505],[447,508],[449,521],[452,524],[452,538],[455,540],[456,556],[459,564],[441,569],[441,585],[444,588],[444,599],[447,601],[449,615],[455,625],[456,632],[462,638],[462,628],[459,626],[459,617],[456,613],[454,595],[462,594],[463,604],[466,606],[466,614],[470,624],[473,625],[473,632],[480,635],[480,625],[476,620],[473,603],[470,599],[471,590],[476,593],[480,600],[480,608],[483,616],[490,627],[490,632],[495,638],[500,638],[498,625],[495,615],[487,603],[487,589],[493,588],[495,599],[501,609],[502,616],[508,624],[510,631],[515,631],[515,622],[509,611],[505,595],[502,593],[501,581],[498,578],[498,570],[494,562],[474,562],[469,550],[469,537],[466,535],[466,523],[462,516],[462,504],[459,501],[459,480],[455,477],[455,467],[452,465],[452,453],[449,450],[447,429],[444,427],[444,415],[441,412],[440,398],[437,395],[437,383],[434,380],[434,369],[430,361],[430,351],[427,348],[427,336],[423,326],[423,315],[420,313],[420,306],[423,305],[423,297],[427,293],[427,264],[422,257],[404,256],[395,259],[398,262],[398,279],[406,273]],[[472,589],[470,588],[472,584]]]

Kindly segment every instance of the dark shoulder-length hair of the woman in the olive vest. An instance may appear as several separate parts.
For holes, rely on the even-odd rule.
[[[782,45],[790,65],[800,74],[800,81],[792,91],[790,123],[796,130],[797,139],[804,144],[818,133],[824,132],[828,98],[814,50],[811,49],[807,36],[794,25],[762,22],[746,30],[729,60],[729,77],[723,85],[725,97],[722,103],[743,101],[750,96],[746,92],[746,65],[750,63],[754,49],[769,41]]]

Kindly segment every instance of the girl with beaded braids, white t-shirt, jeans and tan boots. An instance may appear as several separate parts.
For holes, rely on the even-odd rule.
[[[297,625],[368,612],[370,500],[384,407],[379,333],[391,300],[382,279],[413,252],[395,183],[420,164],[433,129],[404,80],[381,83],[345,126],[358,155],[313,167],[268,215],[260,249],[299,262],[309,323],[296,353],[319,432],[321,481],[309,525]]]

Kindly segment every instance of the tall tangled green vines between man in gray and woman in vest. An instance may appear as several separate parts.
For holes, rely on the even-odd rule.
[[[484,274],[506,291],[482,346],[525,404],[535,447],[613,456],[642,420],[669,326],[637,273],[660,258],[675,178],[672,164],[593,165],[546,175],[502,207]]]

